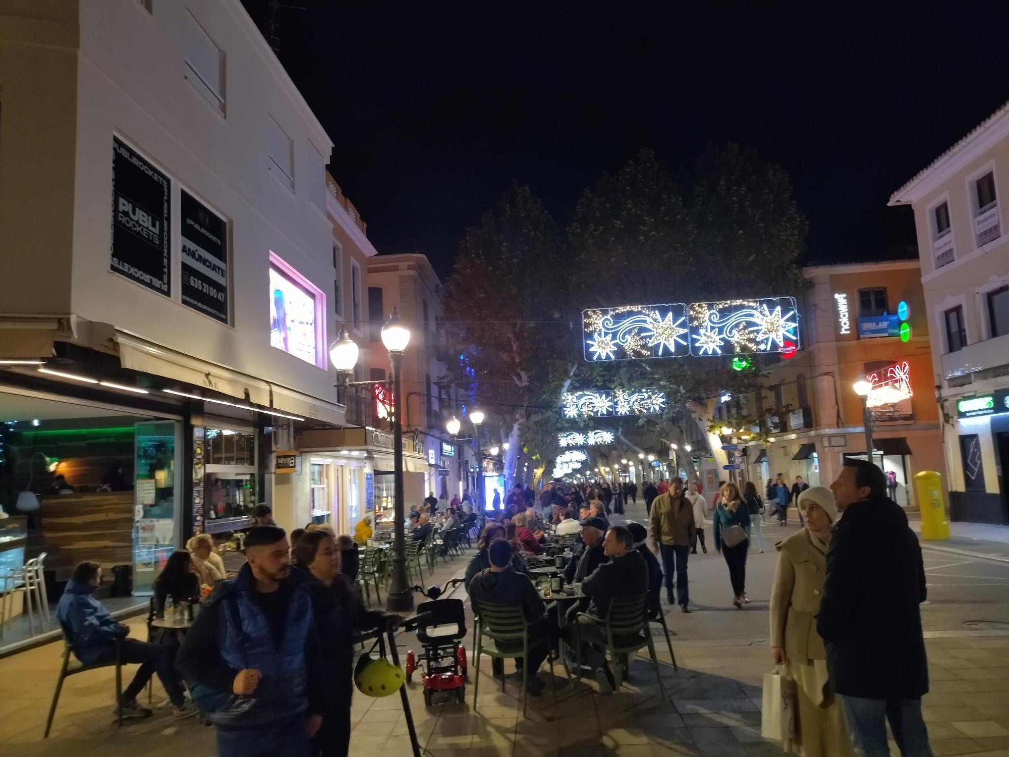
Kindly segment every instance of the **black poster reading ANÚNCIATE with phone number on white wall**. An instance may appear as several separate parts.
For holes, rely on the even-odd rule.
[[[227,224],[186,190],[180,192],[183,305],[228,322]]]

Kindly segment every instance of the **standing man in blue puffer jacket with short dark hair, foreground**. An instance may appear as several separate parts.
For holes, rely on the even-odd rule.
[[[179,651],[219,757],[307,757],[326,708],[306,576],[276,526],[245,536],[246,563],[218,584]]]

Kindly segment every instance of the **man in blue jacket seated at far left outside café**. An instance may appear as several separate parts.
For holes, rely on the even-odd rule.
[[[150,717],[150,711],[137,704],[136,695],[155,672],[172,700],[176,717],[195,715],[193,706],[183,695],[172,647],[127,639],[129,627],[113,620],[102,603],[92,597],[101,582],[101,565],[97,562],[78,563],[57,605],[57,618],[67,632],[74,654],[86,665],[112,662],[116,659],[118,641],[119,659],[124,663],[140,663],[140,669],[116,705],[117,711],[122,708],[123,718]]]

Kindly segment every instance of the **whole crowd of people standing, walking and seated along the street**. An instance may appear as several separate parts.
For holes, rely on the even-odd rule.
[[[593,617],[604,618],[615,599],[639,597],[647,597],[655,617],[663,586],[670,606],[691,613],[688,563],[698,547],[721,553],[732,604],[742,610],[750,602],[747,556],[753,541],[764,551],[765,515],[784,525],[794,506],[801,528],[775,545],[770,600],[772,661],[797,689],[797,724],[786,750],[806,757],[888,754],[889,722],[902,754],[931,754],[921,716],[928,690],[921,550],[877,466],[847,460],[829,489],[801,477],[789,488],[779,474],[767,482],[766,500],[752,481],[742,492],[721,482],[710,504],[696,482],[685,486],[678,477],[646,481],[641,493],[647,526],[609,520],[639,491],[605,483],[547,484],[538,495],[517,486],[486,520],[464,585],[474,613],[481,603],[522,609],[530,694],[542,692],[537,671],[551,652],[560,653],[562,640],[569,661],[592,670],[600,691],[614,690],[612,665],[627,660],[606,659],[605,631]],[[412,510],[411,538],[477,524],[468,491],[443,505]],[[353,636],[401,622],[367,609],[354,588],[358,549],[373,538],[372,522],[362,519],[353,537],[309,524],[289,542],[268,511],[257,521],[246,532],[237,574],[227,573],[205,535],[167,560],[153,585],[152,611],[203,599],[185,635],[161,630],[147,642],[128,638],[128,627],[93,597],[101,582],[94,562],[75,568],[58,617],[82,662],[118,654],[140,664],[116,705],[124,717],[150,716],[136,697],[156,674],[177,718],[199,711],[216,727],[222,757],[346,755]],[[547,612],[530,571],[546,551],[546,532],[574,540],[563,577],[582,599],[559,616]],[[510,651],[507,641],[498,648]],[[503,675],[502,661],[494,659],[492,669]]]

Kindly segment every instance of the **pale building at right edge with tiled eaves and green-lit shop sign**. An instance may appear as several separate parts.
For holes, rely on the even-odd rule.
[[[1009,105],[890,198],[914,210],[951,515],[1009,523]]]

